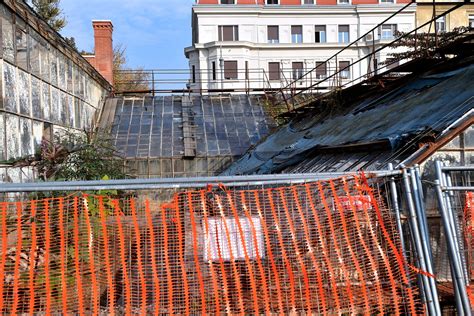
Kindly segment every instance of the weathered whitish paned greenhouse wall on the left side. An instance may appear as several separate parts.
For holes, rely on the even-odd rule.
[[[110,85],[21,1],[1,3],[0,19],[4,161],[34,154],[58,130],[91,128]],[[0,168],[0,182],[30,179],[30,171]]]

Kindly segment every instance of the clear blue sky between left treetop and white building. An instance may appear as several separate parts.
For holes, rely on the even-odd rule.
[[[187,69],[183,49],[191,45],[194,0],[61,0],[79,50],[92,51],[92,20],[112,20],[114,44],[127,48],[128,66]]]

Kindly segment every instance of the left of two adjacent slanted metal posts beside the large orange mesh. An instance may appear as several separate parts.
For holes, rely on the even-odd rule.
[[[420,236],[420,231],[416,219],[416,211],[415,211],[415,206],[413,203],[413,196],[411,192],[411,187],[410,187],[410,181],[408,179],[408,172],[407,170],[403,170],[403,182],[405,184],[405,195],[407,199],[407,205],[408,205],[408,210],[410,212],[410,222],[411,222],[411,228],[412,228],[412,235],[413,235],[413,240],[415,242],[415,248],[416,252],[418,255],[418,264],[419,268],[422,271],[428,271],[426,268],[426,258],[425,254],[423,251],[423,246],[422,246],[422,241],[421,241],[421,236]],[[430,315],[436,315],[436,308],[434,306],[433,302],[433,292],[431,290],[431,283],[428,280],[428,276],[425,274],[421,274],[420,278],[422,279],[423,287],[425,289],[425,302],[428,307],[428,311]]]

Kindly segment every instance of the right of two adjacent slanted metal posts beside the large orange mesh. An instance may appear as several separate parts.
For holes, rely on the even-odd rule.
[[[431,246],[429,244],[430,241],[430,236],[428,232],[428,226],[426,224],[426,213],[425,209],[423,207],[423,200],[422,200],[422,194],[420,194],[420,187],[418,186],[418,179],[417,179],[417,173],[414,168],[411,169],[410,172],[410,178],[411,178],[411,186],[413,188],[413,198],[415,201],[415,211],[417,215],[417,222],[418,222],[418,227],[421,232],[421,245],[423,247],[423,252],[425,255],[425,260],[426,260],[426,271],[431,274],[435,275],[434,273],[434,267],[433,267],[433,255],[431,253]],[[430,283],[430,291],[431,295],[433,297],[433,306],[435,308],[435,315],[441,315],[441,306],[439,305],[439,296],[438,296],[438,290],[436,288],[436,280],[433,277],[430,277],[428,279]]]

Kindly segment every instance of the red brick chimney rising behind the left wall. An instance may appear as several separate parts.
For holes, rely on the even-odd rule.
[[[112,33],[114,26],[111,21],[92,21],[94,28],[95,56],[84,56],[104,76],[110,84],[114,84],[114,48]]]

